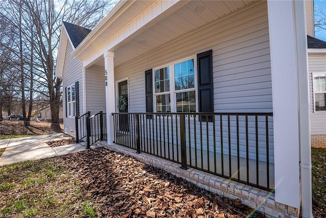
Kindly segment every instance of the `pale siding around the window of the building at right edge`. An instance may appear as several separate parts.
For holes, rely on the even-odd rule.
[[[324,73],[326,70],[326,55],[308,55],[309,99],[310,99],[310,131],[312,135],[326,134],[326,112],[314,112],[313,82],[314,73]]]

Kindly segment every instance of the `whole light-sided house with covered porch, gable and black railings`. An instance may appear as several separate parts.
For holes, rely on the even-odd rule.
[[[310,217],[305,4],[120,1],[92,31],[64,22],[65,133],[88,123],[88,142],[160,157],[137,156],[267,216]]]

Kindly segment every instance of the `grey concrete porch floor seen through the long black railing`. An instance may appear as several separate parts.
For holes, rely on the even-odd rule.
[[[129,148],[136,149],[136,143],[133,136],[129,137],[129,135],[126,134],[119,134],[119,136],[116,137],[116,143],[121,145],[125,144]],[[246,158],[238,158],[237,156],[233,155],[229,156],[229,154],[222,155],[221,153],[214,153],[213,151],[207,152],[207,149],[201,150],[200,144],[197,144],[196,149],[189,149],[189,146],[186,146],[187,165],[190,167],[197,168],[206,172],[211,172],[213,174],[223,175],[224,177],[233,178],[235,180],[241,180],[244,183],[251,183],[255,185],[258,184],[259,186],[266,187],[269,189],[275,188],[273,163],[269,163],[268,173],[267,163],[265,161],[258,161],[257,163],[255,159],[249,159],[247,165]],[[180,145],[176,146],[176,144],[141,137],[141,151],[171,160],[173,162],[181,163]],[[269,178],[267,178],[267,174]],[[267,184],[267,180],[269,181],[269,186]]]

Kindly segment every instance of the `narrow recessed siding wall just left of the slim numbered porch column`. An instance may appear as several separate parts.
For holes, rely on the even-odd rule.
[[[86,69],[86,111],[96,114],[106,112],[104,67],[91,66]]]

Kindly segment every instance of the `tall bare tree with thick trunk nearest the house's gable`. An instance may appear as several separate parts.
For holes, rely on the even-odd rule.
[[[59,129],[62,95],[62,79],[54,75],[61,23],[65,20],[92,28],[113,5],[113,1],[105,0],[3,0],[1,3],[0,16],[18,32],[19,43],[13,50],[21,57],[21,100],[25,101],[26,92],[30,101],[33,92],[43,93],[49,100],[52,128]],[[26,78],[30,80],[28,88]]]

